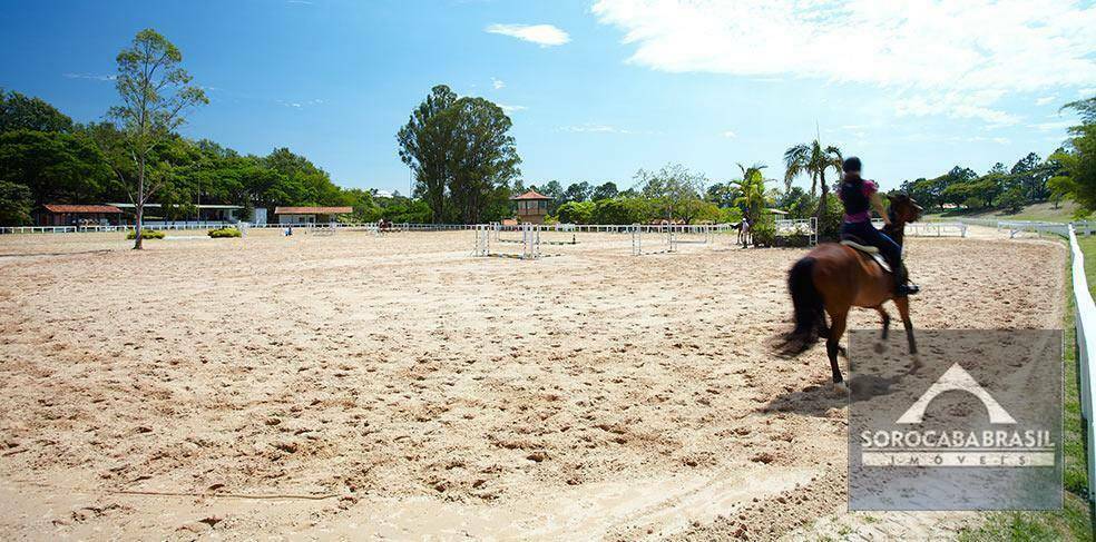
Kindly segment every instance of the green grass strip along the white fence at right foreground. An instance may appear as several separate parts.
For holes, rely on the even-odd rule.
[[[1090,294],[1096,295],[1096,236],[1078,238],[1085,253],[1085,276]],[[1067,264],[1068,265],[1068,264]],[[1069,269],[1066,269],[1068,278]],[[995,512],[985,524],[959,533],[965,542],[990,540],[1093,540],[1093,512],[1089,507],[1088,471],[1085,463],[1085,430],[1080,421],[1080,392],[1077,385],[1077,352],[1074,327],[1075,311],[1073,282],[1067,280],[1066,317],[1064,325],[1064,363],[1066,385],[1064,397],[1063,451],[1065,470],[1065,502],[1060,511],[1053,512]]]

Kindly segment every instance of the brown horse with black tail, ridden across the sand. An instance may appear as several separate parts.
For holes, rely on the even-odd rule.
[[[883,233],[901,245],[906,223],[920,218],[921,207],[904,194],[891,195],[888,199],[891,224],[883,227]],[[784,355],[796,356],[820,337],[825,337],[825,353],[830,357],[834,384],[843,380],[838,367],[838,353],[844,353],[844,348],[838,342],[844,335],[852,307],[878,311],[883,318],[885,339],[890,331],[890,315],[883,309],[883,303],[893,299],[906,325],[910,354],[917,354],[909,298],[894,297],[894,277],[863,252],[836,243],[823,243],[792,266],[787,273],[787,288],[795,311],[795,328],[784,335],[780,349]],[[829,325],[823,309],[830,315]]]

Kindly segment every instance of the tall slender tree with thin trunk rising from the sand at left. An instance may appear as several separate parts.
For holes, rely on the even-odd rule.
[[[150,28],[137,32],[133,43],[118,53],[117,63],[115,86],[121,105],[110,108],[109,116],[121,128],[118,142],[124,152],[108,152],[108,157],[115,158],[109,160],[111,167],[134,204],[134,249],[140,249],[145,204],[167,180],[164,165],[150,164],[154,150],[186,122],[184,115],[190,108],[209,99],[200,87],[192,85],[190,75],[180,66],[179,49]],[[119,164],[119,155],[131,164]]]

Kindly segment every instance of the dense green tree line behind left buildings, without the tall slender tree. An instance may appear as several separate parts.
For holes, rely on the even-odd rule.
[[[0,90],[0,225],[30,223],[52,203],[128,203],[129,196],[96,139],[120,138],[109,121],[77,124],[38,98]],[[350,206],[362,220],[429,221],[429,209],[375,190],[341,188],[306,157],[288,148],[244,155],[209,139],[173,135],[150,155],[164,180],[157,218],[194,218],[198,204],[255,207]]]

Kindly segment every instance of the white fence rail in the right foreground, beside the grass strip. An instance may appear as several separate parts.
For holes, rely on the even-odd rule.
[[[1074,302],[1077,307],[1077,380],[1080,383],[1080,415],[1088,434],[1088,499],[1096,500],[1096,423],[1093,420],[1093,404],[1096,403],[1096,390],[1093,383],[1093,363],[1096,363],[1096,303],[1088,292],[1088,279],[1085,277],[1085,254],[1077,243],[1077,234],[1073,225],[1068,225],[1069,249],[1073,253],[1073,287]]]

